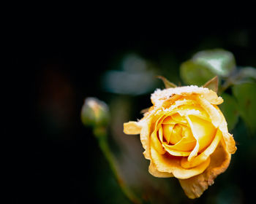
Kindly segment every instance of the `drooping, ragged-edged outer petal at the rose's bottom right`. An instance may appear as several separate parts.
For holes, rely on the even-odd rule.
[[[179,179],[187,197],[191,199],[200,197],[208,189],[208,186],[214,184],[214,179],[220,173],[225,172],[230,164],[230,158],[231,154],[227,152],[224,141],[222,141],[215,152],[211,154],[210,165],[202,174],[187,179]]]

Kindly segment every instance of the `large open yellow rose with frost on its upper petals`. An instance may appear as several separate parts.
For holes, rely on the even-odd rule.
[[[200,197],[230,164],[236,142],[218,106],[223,102],[206,87],[156,90],[153,106],[124,133],[140,134],[149,173],[176,177],[189,198]]]

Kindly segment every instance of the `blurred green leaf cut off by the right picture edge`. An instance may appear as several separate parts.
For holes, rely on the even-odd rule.
[[[256,83],[248,82],[233,86],[241,117],[250,133],[256,132]]]

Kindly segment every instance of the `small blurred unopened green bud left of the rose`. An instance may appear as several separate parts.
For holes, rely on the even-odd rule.
[[[107,126],[110,121],[108,105],[97,98],[86,98],[81,111],[81,120],[86,126]]]

